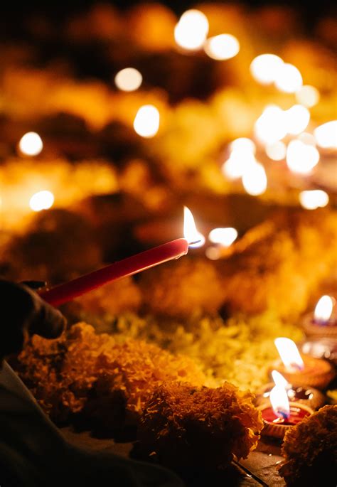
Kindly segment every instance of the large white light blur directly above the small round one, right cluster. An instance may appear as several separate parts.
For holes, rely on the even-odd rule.
[[[287,135],[287,117],[277,105],[269,105],[255,122],[255,136],[263,144],[272,144]]]

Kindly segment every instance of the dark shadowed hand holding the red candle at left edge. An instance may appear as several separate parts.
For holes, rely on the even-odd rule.
[[[25,284],[0,279],[0,363],[23,348],[28,335],[58,337],[65,317]]]

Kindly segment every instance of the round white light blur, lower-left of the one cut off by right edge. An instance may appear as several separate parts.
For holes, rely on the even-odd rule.
[[[294,173],[308,174],[319,162],[316,147],[301,140],[291,140],[287,149],[287,166]]]

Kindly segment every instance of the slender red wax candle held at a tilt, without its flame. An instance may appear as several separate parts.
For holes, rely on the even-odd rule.
[[[127,259],[114,262],[114,264],[90,272],[90,274],[77,277],[73,281],[65,282],[65,284],[60,284],[48,289],[48,291],[43,291],[40,296],[48,303],[53,304],[53,306],[59,306],[85,294],[87,291],[92,291],[92,289],[107,284],[107,282],[132,276],[155,265],[163,264],[168,260],[178,259],[178,257],[186,255],[187,252],[187,240],[178,238],[164,245],[159,245],[159,247],[154,247],[140,254],[132,255],[132,257],[127,257]]]

